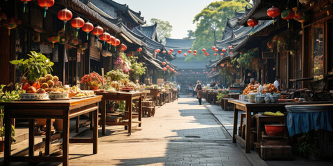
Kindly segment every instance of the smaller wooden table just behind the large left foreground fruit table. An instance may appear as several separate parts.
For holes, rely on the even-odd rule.
[[[128,126],[128,135],[132,133],[132,109],[133,109],[133,100],[139,100],[139,120],[135,121],[141,127],[141,118],[142,118],[142,100],[144,92],[142,91],[133,91],[133,92],[104,92],[97,93],[99,95],[103,95],[102,100],[102,135],[105,136],[105,125],[125,125]],[[124,120],[123,122],[106,122],[106,101],[120,101],[123,100],[126,102],[125,109],[128,111],[128,120]]]

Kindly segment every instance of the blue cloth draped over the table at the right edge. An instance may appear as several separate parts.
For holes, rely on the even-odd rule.
[[[315,105],[287,105],[287,128],[289,136],[323,129],[333,131],[332,105],[316,107]]]

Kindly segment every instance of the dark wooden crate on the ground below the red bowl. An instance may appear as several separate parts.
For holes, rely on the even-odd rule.
[[[293,150],[289,145],[261,145],[260,157],[264,160],[291,160]]]

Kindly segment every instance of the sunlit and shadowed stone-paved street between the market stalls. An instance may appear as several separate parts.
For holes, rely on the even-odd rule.
[[[107,127],[107,136],[99,135],[99,154],[84,144],[70,145],[69,154],[70,165],[250,165],[195,98],[165,104],[131,136],[123,127]]]

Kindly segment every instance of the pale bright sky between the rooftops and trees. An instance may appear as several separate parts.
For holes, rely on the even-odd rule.
[[[114,0],[126,3],[150,24],[151,18],[169,21],[172,26],[171,38],[182,39],[187,36],[187,30],[196,30],[192,21],[203,8],[216,0]]]

